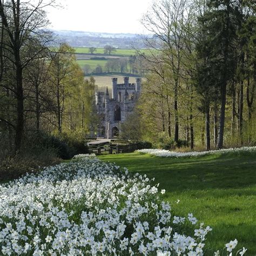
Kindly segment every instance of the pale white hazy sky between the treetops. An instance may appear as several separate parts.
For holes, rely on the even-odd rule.
[[[152,0],[62,0],[61,3],[64,9],[49,10],[52,29],[143,33],[139,20]]]

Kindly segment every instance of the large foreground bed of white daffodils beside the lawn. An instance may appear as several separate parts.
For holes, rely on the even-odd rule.
[[[211,228],[173,216],[151,181],[79,156],[1,185],[0,254],[203,255]]]

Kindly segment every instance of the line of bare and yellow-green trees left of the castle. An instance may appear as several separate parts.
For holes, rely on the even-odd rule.
[[[95,80],[84,80],[69,45],[49,48],[56,42],[44,29],[45,7],[53,4],[0,0],[0,140],[9,155],[42,132],[84,139],[94,119]]]

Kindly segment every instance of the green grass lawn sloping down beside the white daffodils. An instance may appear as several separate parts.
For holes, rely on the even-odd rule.
[[[194,216],[212,231],[208,246],[218,250],[238,239],[237,248],[256,255],[256,155],[159,158],[127,153],[100,156],[130,172],[155,177],[173,214]],[[177,201],[179,203],[177,203]],[[209,252],[208,255],[213,255]]]

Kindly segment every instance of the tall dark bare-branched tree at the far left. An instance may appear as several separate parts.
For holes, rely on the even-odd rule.
[[[49,37],[42,28],[49,22],[43,8],[53,4],[54,0],[21,2],[9,0],[0,1],[0,16],[2,19],[3,57],[11,63],[10,69],[14,72],[14,92],[16,98],[16,122],[15,122],[15,151],[19,151],[22,145],[24,132],[24,84],[23,70],[46,48]],[[31,51],[31,45],[36,51]],[[3,63],[2,63],[3,64]],[[3,67],[3,65],[2,65]]]

